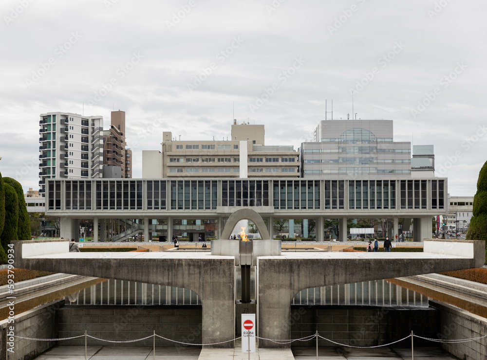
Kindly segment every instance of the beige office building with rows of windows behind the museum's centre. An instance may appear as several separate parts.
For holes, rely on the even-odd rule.
[[[298,178],[293,145],[265,145],[264,126],[234,122],[230,140],[176,141],[163,132],[162,151],[142,152],[142,177]]]

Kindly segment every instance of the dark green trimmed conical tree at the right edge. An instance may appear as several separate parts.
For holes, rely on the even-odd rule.
[[[480,169],[477,193],[473,197],[473,216],[470,219],[466,238],[484,240],[487,244],[487,162]]]

